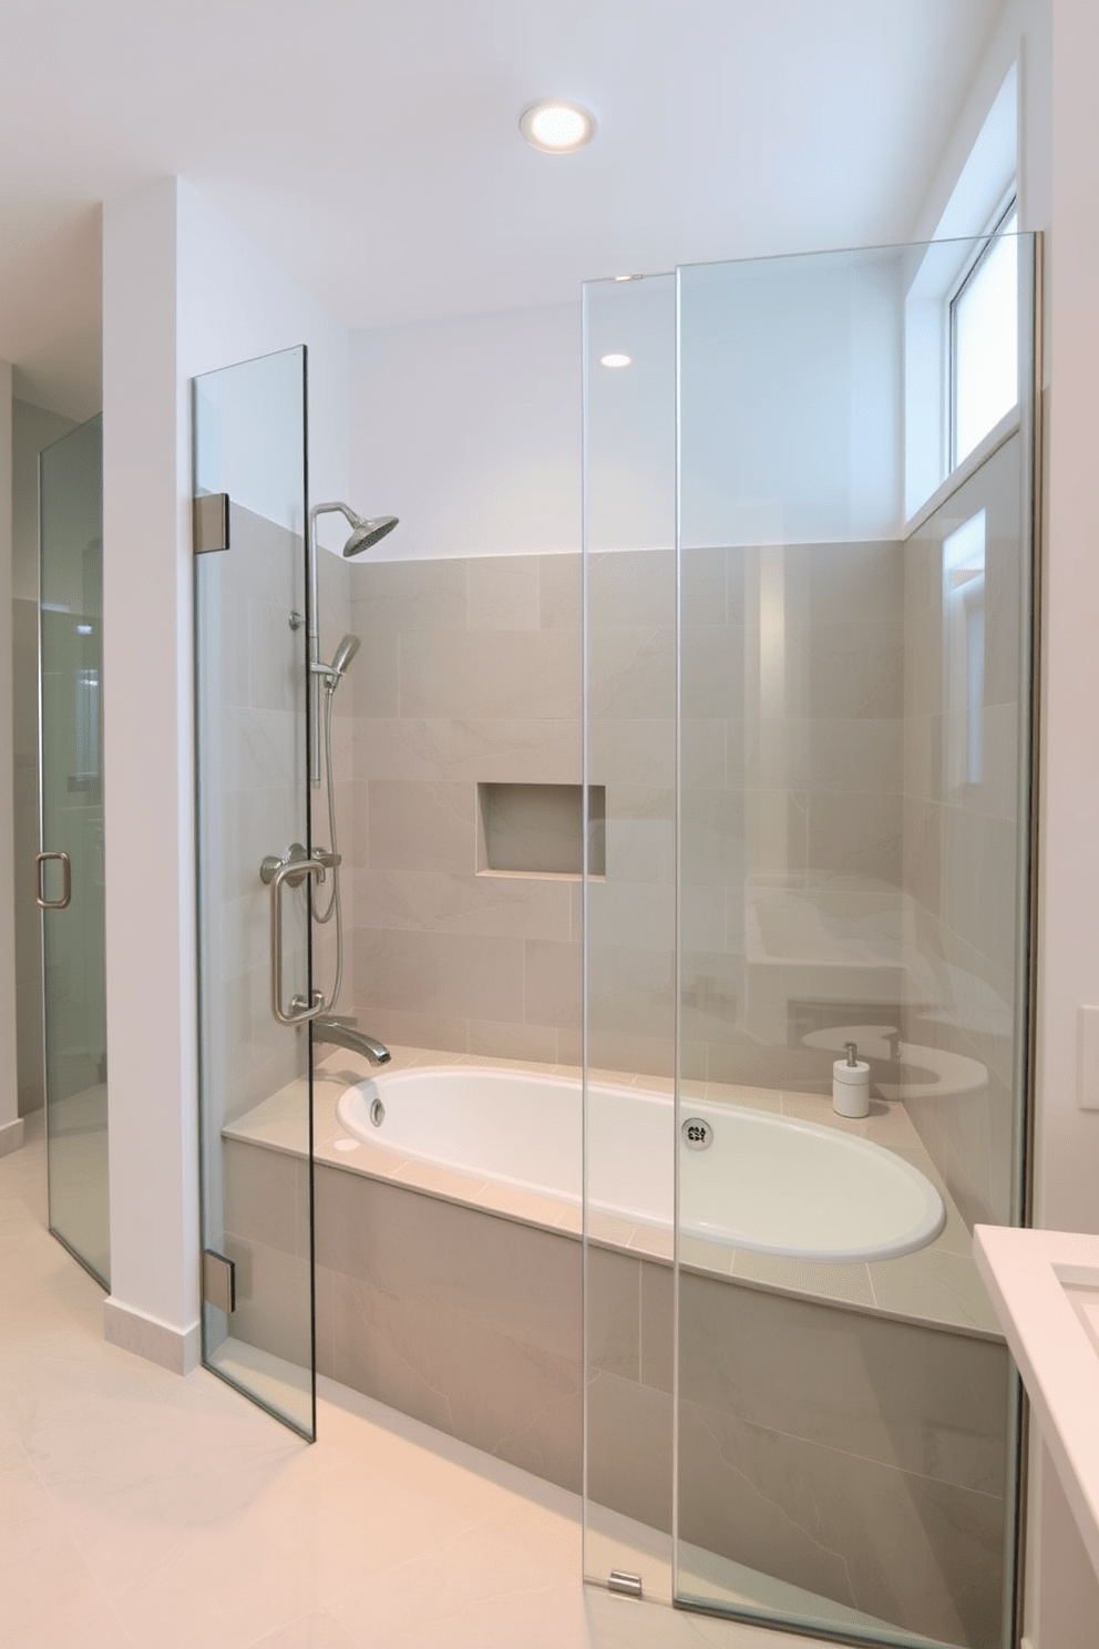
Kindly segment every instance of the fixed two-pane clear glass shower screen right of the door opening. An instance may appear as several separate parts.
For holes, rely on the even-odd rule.
[[[1033,239],[687,267],[583,310],[585,1575],[1007,1646],[1020,1400],[970,1233],[1025,1215]],[[849,1042],[863,1120],[830,1103]],[[671,1230],[598,1212],[603,1070],[674,1093]],[[886,1148],[942,1230],[842,1261],[715,1240],[702,1102]],[[827,1181],[766,1196],[835,1212]]]

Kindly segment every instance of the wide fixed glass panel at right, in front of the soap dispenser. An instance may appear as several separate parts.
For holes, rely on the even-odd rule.
[[[1017,1382],[970,1238],[1020,1215],[1033,284],[1018,427],[906,523],[921,264],[679,272],[676,1596],[994,1649]]]

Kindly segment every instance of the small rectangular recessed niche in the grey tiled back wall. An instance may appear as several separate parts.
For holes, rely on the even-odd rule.
[[[606,790],[588,792],[592,876],[606,874]],[[478,876],[583,874],[582,785],[478,785]]]

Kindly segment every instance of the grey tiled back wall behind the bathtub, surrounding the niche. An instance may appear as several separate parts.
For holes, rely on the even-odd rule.
[[[774,556],[781,704],[760,696],[756,633]],[[580,594],[575,554],[351,567],[354,1001],[384,1041],[580,1060],[578,887],[478,874],[478,785],[580,782]],[[702,1080],[827,1087],[825,1059],[748,1021],[743,886],[898,907],[901,595],[895,543],[685,551],[684,1031]],[[671,552],[590,557],[592,1054],[652,1075],[672,1069],[674,617]]]

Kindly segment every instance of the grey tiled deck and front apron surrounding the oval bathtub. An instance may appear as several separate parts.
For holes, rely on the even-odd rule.
[[[453,1062],[422,1049],[394,1059],[397,1069]],[[338,1052],[316,1078],[321,1372],[578,1487],[580,1210],[372,1146],[348,1149],[334,1105],[364,1075]],[[709,1085],[705,1097],[830,1118],[814,1095]],[[226,1243],[244,1314],[249,1268],[298,1278],[308,1266],[300,1105],[290,1088],[226,1131]],[[941,1184],[900,1106],[839,1126]],[[872,1265],[684,1240],[682,1535],[908,1631],[992,1649],[1008,1362],[969,1233],[946,1200],[933,1245]],[[592,1224],[590,1487],[664,1530],[669,1260],[669,1233]],[[277,1321],[249,1318],[246,1332],[277,1355],[308,1351]]]

